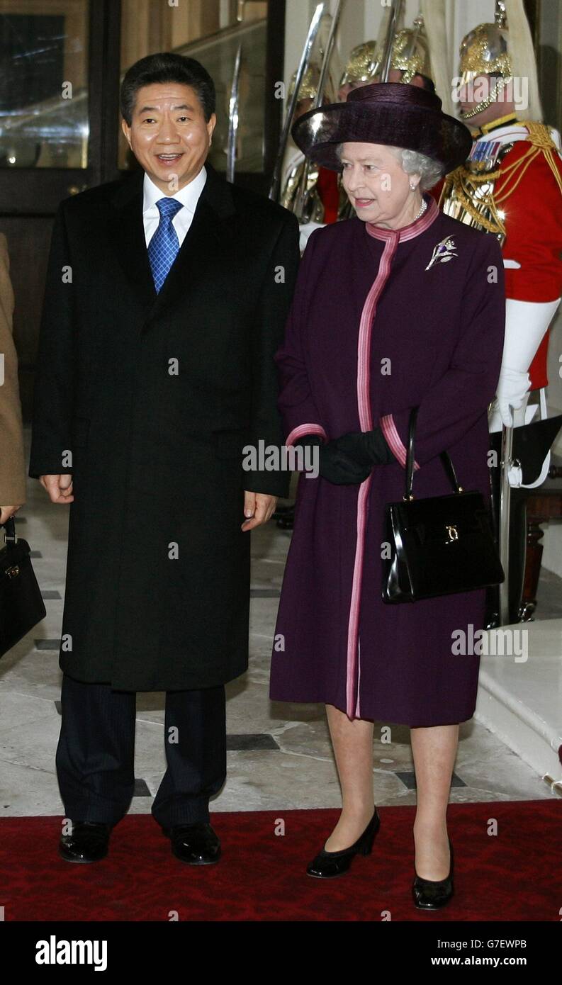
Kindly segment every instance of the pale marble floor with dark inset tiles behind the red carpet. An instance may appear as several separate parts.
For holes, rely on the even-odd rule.
[[[29,480],[18,532],[31,544],[46,619],[0,661],[0,817],[62,815],[54,769],[59,732],[62,618],[68,513]],[[340,806],[340,788],[322,706],[270,702],[268,674],[284,558],[290,534],[274,523],[253,535],[250,669],[227,687],[228,776],[212,811]],[[558,616],[562,580],[545,574],[538,618]],[[541,598],[539,593],[539,599]],[[553,612],[549,612],[552,605]],[[136,795],[131,811],[150,811],[164,768],[163,694],[137,702]],[[415,803],[406,726],[380,741],[375,726],[379,805]],[[475,720],[461,728],[451,802],[552,798],[523,758]]]

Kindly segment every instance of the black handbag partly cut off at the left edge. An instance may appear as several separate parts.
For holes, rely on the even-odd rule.
[[[0,657],[46,616],[30,545],[16,535],[14,517],[4,524],[6,546],[0,551]]]

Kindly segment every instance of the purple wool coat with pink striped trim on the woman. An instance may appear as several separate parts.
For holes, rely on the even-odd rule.
[[[382,601],[384,508],[405,492],[409,412],[418,406],[413,493],[465,490],[489,501],[487,407],[504,338],[494,236],[428,209],[403,230],[357,218],[315,230],[276,361],[286,444],[383,428],[396,462],[360,486],[301,473],[286,561],[271,697],[333,704],[349,718],[411,727],[473,714],[479,656],[456,630],[483,627],[485,591]],[[473,648],[473,647],[472,647]]]

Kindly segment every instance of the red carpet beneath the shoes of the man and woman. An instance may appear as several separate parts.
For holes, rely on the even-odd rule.
[[[59,858],[59,818],[0,820],[0,904],[5,920],[546,920],[562,899],[562,801],[453,804],[456,896],[439,914],[410,900],[412,807],[380,809],[373,854],[323,882],[309,859],[339,817],[329,811],[215,814],[222,842],[216,866],[173,858],[150,816],[131,815],[94,865]],[[276,835],[276,821],[284,835]],[[490,819],[497,836],[487,833]]]

